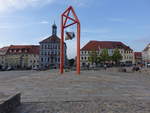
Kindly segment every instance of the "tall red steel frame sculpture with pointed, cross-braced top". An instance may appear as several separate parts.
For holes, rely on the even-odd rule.
[[[70,14],[72,13],[72,17]],[[72,23],[67,23],[71,21]],[[68,9],[65,10],[64,13],[61,15],[61,41],[60,41],[60,73],[63,74],[64,72],[64,30],[73,25],[77,25],[77,58],[76,58],[76,72],[80,74],[80,21],[73,9],[70,6]]]

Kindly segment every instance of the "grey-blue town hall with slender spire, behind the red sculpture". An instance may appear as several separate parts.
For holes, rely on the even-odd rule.
[[[64,43],[64,61],[67,62],[67,46]],[[52,35],[40,42],[41,68],[58,68],[60,65],[60,38],[57,36],[57,26],[52,26]]]

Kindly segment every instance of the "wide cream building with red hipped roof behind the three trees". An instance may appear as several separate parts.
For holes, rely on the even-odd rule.
[[[119,49],[121,55],[122,55],[122,63],[130,63],[132,64],[134,62],[134,54],[133,50],[129,47],[123,44],[122,42],[115,42],[115,41],[90,41],[88,42],[80,51],[81,57],[81,65],[89,64],[89,54],[92,51],[96,51],[98,55],[101,54],[103,49],[108,49],[109,56],[112,56],[114,53],[114,50],[116,48]]]

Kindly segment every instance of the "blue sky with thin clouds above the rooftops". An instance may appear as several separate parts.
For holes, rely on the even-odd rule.
[[[142,51],[150,43],[150,0],[0,0],[0,47],[37,45],[54,22],[60,37],[60,15],[70,5],[81,23],[81,48],[90,40],[121,41]],[[66,43],[73,58],[76,39]]]

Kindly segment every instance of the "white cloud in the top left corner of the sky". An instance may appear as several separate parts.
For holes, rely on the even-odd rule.
[[[0,12],[52,3],[54,0],[0,0]]]

